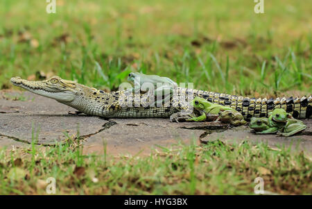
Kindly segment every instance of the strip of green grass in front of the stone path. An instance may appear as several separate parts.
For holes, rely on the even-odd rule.
[[[179,145],[148,157],[83,156],[58,143],[0,151],[1,194],[254,194],[254,179],[275,194],[311,194],[311,159],[288,149],[245,142]]]

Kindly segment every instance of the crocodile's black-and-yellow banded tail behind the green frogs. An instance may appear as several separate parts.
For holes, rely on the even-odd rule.
[[[293,97],[289,97],[288,99],[285,97],[281,99],[256,99],[201,90],[194,93],[194,96],[202,97],[207,99],[207,101],[228,106],[241,112],[245,119],[250,119],[251,117],[268,117],[269,112],[272,112],[275,108],[283,108],[295,118],[312,118],[312,96],[296,97],[295,99]]]

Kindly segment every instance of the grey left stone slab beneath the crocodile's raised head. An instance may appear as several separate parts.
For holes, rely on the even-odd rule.
[[[6,95],[15,94],[8,92]],[[34,139],[37,144],[54,144],[67,135],[76,137],[78,132],[80,136],[97,133],[107,122],[100,117],[69,115],[68,112],[75,112],[75,109],[30,92],[22,94],[26,101],[0,100],[0,112],[8,111],[0,113],[0,135],[10,140],[31,143]]]

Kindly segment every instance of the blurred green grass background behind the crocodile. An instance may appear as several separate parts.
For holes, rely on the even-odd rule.
[[[0,88],[58,75],[116,90],[128,72],[252,97],[311,94],[312,1],[0,1]],[[37,73],[37,74],[36,74]]]

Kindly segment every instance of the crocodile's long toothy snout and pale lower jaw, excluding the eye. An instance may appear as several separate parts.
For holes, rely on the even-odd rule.
[[[55,89],[51,89],[44,83],[44,81],[27,81],[19,77],[13,77],[10,81],[13,85],[24,88],[29,92],[39,94],[40,96],[49,97],[60,102],[71,102],[76,97],[74,92],[68,90],[57,91]]]

